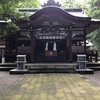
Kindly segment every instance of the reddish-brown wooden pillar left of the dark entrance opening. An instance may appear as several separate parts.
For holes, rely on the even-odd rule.
[[[31,62],[34,62],[35,60],[35,37],[34,37],[34,32],[31,29],[30,31],[30,36],[31,36],[31,53],[30,53],[30,57],[31,57]]]

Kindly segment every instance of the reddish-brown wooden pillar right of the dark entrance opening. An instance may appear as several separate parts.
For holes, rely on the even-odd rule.
[[[69,35],[68,35],[68,51],[69,51],[69,62],[72,62],[72,27],[69,29]]]

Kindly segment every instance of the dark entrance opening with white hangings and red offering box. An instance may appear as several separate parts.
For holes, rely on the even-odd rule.
[[[54,38],[54,36],[53,36]],[[55,37],[56,38],[56,37]],[[59,37],[58,37],[59,38]],[[56,63],[67,62],[66,39],[36,39],[35,62],[37,63]]]

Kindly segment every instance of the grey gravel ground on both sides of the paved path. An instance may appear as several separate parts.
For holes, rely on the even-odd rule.
[[[0,72],[0,95],[22,78],[22,76],[23,75],[10,75],[9,72]],[[100,71],[95,71],[94,74],[83,76],[89,79],[93,85],[100,87]]]

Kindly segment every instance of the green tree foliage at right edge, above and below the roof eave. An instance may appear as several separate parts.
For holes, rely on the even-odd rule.
[[[100,0],[89,0],[88,5],[88,15],[94,19],[100,19]],[[100,51],[100,28],[89,35],[91,36],[91,41],[95,49]]]

